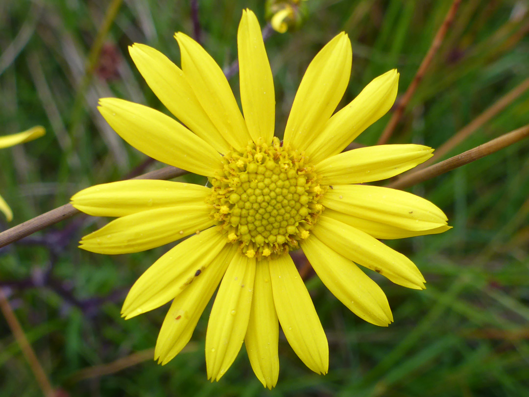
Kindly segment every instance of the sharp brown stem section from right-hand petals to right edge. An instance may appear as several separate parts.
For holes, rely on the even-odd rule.
[[[476,148],[467,150],[460,155],[441,161],[441,163],[437,163],[430,167],[409,173],[408,175],[398,178],[395,182],[390,183],[387,187],[394,189],[404,189],[406,187],[416,185],[418,183],[427,181],[428,179],[432,179],[436,176],[447,173],[455,168],[472,163],[472,161],[476,161],[482,157],[488,156],[527,137],[529,137],[529,124],[522,128],[518,128],[517,130],[508,132],[501,137],[492,139],[491,141]]]

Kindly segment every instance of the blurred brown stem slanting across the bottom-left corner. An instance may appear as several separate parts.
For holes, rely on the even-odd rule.
[[[19,344],[24,357],[26,360],[28,360],[28,364],[31,368],[31,371],[33,372],[33,375],[35,375],[35,378],[37,378],[37,383],[39,384],[42,393],[45,397],[53,397],[55,392],[53,391],[50,380],[44,372],[44,368],[42,368],[42,365],[40,365],[39,359],[33,351],[28,338],[26,338],[24,330],[22,329],[19,320],[16,318],[16,315],[13,312],[9,301],[4,295],[2,288],[0,288],[0,310],[2,310],[2,314],[4,314],[7,325],[11,329],[11,332]]]

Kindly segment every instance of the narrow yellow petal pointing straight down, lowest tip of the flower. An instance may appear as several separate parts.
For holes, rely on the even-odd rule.
[[[278,341],[279,323],[273,304],[269,262],[261,260],[256,265],[252,309],[244,344],[253,372],[268,389],[276,386],[279,376]]]

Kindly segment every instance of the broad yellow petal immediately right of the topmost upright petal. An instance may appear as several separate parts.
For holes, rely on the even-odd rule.
[[[322,132],[347,88],[351,60],[351,42],[342,32],[308,65],[285,128],[284,142],[293,149],[306,149]]]

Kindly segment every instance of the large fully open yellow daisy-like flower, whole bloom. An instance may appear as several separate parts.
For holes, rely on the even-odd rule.
[[[393,105],[398,73],[373,80],[335,113],[349,83],[351,44],[338,34],[300,83],[284,140],[273,137],[275,94],[256,16],[243,11],[238,32],[244,118],[222,70],[193,39],[177,33],[182,69],[157,50],[134,44],[132,59],[177,119],[116,98],[99,111],[136,149],[209,178],[211,187],[123,181],[72,197],[79,210],[118,219],[80,247],[124,254],[191,235],[132,286],[126,319],[172,301],[155,358],[166,364],[191,338],[220,283],[206,333],[207,375],[219,380],[245,342],[259,380],[275,386],[279,324],[316,373],[329,366],[327,339],[288,252],[302,248],[323,283],[350,310],[378,326],[393,317],[384,292],[355,265],[409,288],[424,278],[404,255],[377,239],[447,230],[446,216],[421,197],[355,185],[404,172],[432,156],[420,145],[341,151]]]

